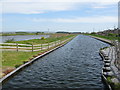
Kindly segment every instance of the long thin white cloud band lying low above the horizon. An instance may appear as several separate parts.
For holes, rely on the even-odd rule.
[[[116,23],[117,17],[97,16],[97,17],[77,17],[77,18],[33,18],[34,22],[57,22],[57,23]]]

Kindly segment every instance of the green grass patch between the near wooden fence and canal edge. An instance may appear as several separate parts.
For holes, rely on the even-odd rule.
[[[33,55],[37,55],[42,51],[37,52],[22,52],[22,51],[2,51],[2,65],[15,67],[15,65],[23,64],[23,61],[28,61]]]

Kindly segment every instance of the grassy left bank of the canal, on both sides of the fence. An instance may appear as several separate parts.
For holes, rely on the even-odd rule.
[[[48,42],[53,42],[57,40],[65,40],[75,35],[53,35],[50,38],[46,38],[44,40],[40,39],[32,39],[32,40],[26,40],[26,41],[16,41],[17,43],[32,43],[32,44],[43,44]],[[15,42],[15,43],[16,43]],[[54,47],[51,47],[54,48]],[[8,68],[16,68],[20,66],[21,64],[24,64],[25,62],[31,60],[32,58],[36,57],[38,54],[42,54],[43,52],[47,51],[34,51],[34,52],[23,52],[23,51],[2,51],[2,68],[3,71],[7,70]]]

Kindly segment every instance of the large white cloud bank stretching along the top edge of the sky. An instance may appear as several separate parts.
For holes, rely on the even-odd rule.
[[[105,8],[119,0],[1,0],[3,13],[40,14],[48,11],[76,9],[83,3],[93,4],[93,8]],[[79,3],[79,4],[78,4]]]

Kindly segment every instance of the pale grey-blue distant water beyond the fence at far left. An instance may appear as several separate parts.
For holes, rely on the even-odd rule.
[[[48,38],[49,35],[16,35],[16,36],[0,36],[0,43],[5,42],[9,39],[14,39],[15,41],[29,40],[29,39],[40,39],[41,37]]]

